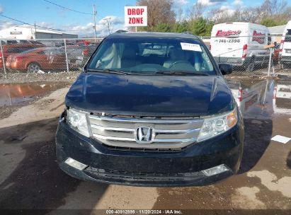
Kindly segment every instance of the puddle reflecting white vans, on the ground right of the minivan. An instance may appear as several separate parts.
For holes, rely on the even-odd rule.
[[[291,81],[241,79],[227,80],[244,119],[271,120],[291,115]]]

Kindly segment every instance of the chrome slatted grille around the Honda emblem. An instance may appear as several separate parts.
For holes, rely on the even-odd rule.
[[[197,140],[203,120],[89,115],[89,122],[93,137],[108,146],[131,149],[182,149]],[[137,143],[135,130],[138,127],[154,128],[152,143]]]

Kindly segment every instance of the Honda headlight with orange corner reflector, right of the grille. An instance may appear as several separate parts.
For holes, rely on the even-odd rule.
[[[223,132],[226,132],[227,130],[234,127],[234,125],[236,125],[236,122],[236,109],[224,115],[205,118],[202,128],[200,130],[200,134],[198,136],[198,141],[210,139],[213,136],[222,134]]]

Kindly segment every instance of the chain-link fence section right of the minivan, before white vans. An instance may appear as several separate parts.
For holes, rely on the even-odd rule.
[[[218,64],[232,64],[232,76],[291,72],[290,35],[201,37]]]

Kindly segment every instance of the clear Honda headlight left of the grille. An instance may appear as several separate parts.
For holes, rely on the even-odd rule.
[[[80,134],[90,136],[86,112],[70,108],[67,110],[67,123]]]

